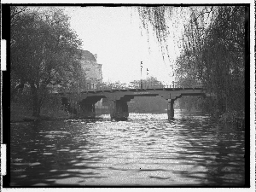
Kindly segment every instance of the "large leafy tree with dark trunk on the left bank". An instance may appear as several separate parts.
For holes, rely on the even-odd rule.
[[[19,20],[14,18],[11,20],[11,73],[20,84],[29,84],[32,115],[38,117],[49,84],[68,85],[78,78],[81,41],[61,9],[31,9],[19,15]]]

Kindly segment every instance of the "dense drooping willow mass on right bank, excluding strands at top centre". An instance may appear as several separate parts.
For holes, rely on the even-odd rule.
[[[185,26],[177,78],[195,79],[212,94],[221,113],[244,110],[244,7],[192,11]],[[212,21],[205,25],[205,16]]]

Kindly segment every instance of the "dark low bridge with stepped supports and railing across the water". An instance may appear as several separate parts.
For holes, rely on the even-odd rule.
[[[127,119],[129,116],[127,102],[135,96],[161,96],[168,101],[168,119],[174,117],[174,102],[181,96],[206,96],[202,85],[195,84],[193,87],[173,87],[172,85],[138,84],[137,86],[96,86],[95,89],[81,90],[79,92],[58,91],[62,104],[76,101],[77,115],[84,119],[95,118],[95,104],[103,98],[108,102],[111,119]]]

